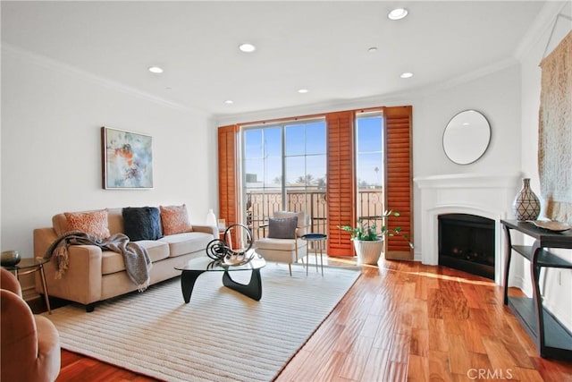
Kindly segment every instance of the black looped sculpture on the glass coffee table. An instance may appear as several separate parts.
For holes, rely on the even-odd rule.
[[[227,237],[231,237],[231,231],[233,229],[244,230],[244,239],[248,242],[247,248],[240,248],[238,250],[233,250],[230,243],[226,242]],[[242,233],[236,233],[237,237],[243,237]],[[206,245],[206,256],[213,259],[213,266],[221,265],[223,267],[230,266],[241,266],[248,264],[250,260],[254,259],[255,252],[252,249],[252,233],[246,225],[230,225],[223,234],[223,240],[214,239]]]

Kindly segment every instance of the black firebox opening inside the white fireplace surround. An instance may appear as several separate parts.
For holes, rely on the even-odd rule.
[[[443,214],[439,221],[439,265],[494,280],[494,220]]]

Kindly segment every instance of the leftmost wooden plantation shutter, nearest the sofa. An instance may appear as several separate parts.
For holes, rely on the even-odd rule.
[[[226,225],[238,223],[237,193],[237,134],[238,126],[218,128],[218,205],[221,219]]]

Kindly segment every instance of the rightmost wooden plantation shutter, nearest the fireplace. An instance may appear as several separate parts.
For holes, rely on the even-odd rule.
[[[399,212],[387,225],[401,227],[398,236],[388,237],[386,259],[413,259],[413,194],[411,161],[411,106],[383,108],[385,121],[385,208]],[[404,237],[406,236],[406,237]]]

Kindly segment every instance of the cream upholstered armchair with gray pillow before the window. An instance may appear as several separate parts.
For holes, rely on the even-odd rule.
[[[266,261],[288,263],[292,276],[291,264],[307,255],[307,242],[300,237],[309,233],[310,217],[304,211],[276,211],[266,228],[265,237],[254,243],[257,253]]]

